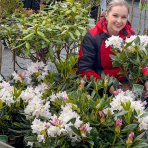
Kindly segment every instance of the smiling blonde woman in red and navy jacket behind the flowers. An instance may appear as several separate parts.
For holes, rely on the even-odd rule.
[[[84,37],[79,51],[78,70],[81,76],[90,79],[101,79],[101,75],[109,75],[124,83],[127,80],[119,74],[121,67],[113,67],[110,55],[112,49],[105,47],[105,41],[112,35],[126,39],[134,34],[128,22],[129,8],[125,0],[112,0],[104,17],[90,29]],[[114,94],[114,87],[109,92]]]

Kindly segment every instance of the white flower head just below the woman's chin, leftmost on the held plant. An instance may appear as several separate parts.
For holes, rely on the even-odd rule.
[[[118,48],[119,50],[121,50],[123,39],[119,36],[111,36],[105,41],[105,44],[106,47],[111,46],[112,48]]]

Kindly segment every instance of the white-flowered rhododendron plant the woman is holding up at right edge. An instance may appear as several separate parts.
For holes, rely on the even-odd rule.
[[[138,83],[147,79],[148,36],[133,35],[125,40],[112,36],[105,41],[106,47],[112,47],[111,55],[114,67],[122,67],[120,71],[130,83]]]

